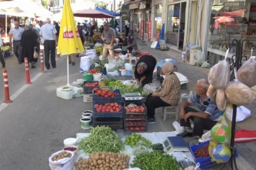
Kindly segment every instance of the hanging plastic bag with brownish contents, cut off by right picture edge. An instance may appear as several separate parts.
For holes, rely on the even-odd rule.
[[[249,88],[256,85],[256,60],[255,56],[250,57],[237,71],[237,79]]]

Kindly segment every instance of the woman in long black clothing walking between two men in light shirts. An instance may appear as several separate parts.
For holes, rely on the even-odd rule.
[[[22,59],[28,58],[32,69],[35,68],[37,59],[34,59],[35,48],[37,47],[37,33],[33,31],[33,25],[27,25],[26,30],[21,35]]]

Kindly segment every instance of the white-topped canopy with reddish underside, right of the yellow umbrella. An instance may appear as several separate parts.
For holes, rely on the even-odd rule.
[[[114,18],[113,15],[98,11],[96,9],[83,9],[81,11],[76,11],[74,16],[85,18]]]

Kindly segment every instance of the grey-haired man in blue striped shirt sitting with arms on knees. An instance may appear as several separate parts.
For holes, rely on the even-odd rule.
[[[217,120],[221,116],[221,111],[218,110],[216,101],[210,101],[206,93],[209,88],[209,82],[201,79],[197,82],[197,92],[189,99],[184,101],[180,110],[180,125],[185,127],[185,132],[178,134],[181,137],[202,137],[204,130],[210,130],[216,125]],[[188,107],[191,103],[198,106],[198,110]],[[193,121],[193,130],[190,125],[190,120]]]

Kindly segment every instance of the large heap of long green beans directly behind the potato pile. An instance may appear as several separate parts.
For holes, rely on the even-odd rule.
[[[86,153],[95,152],[120,152],[125,149],[125,144],[119,139],[118,134],[109,127],[94,127],[91,135],[79,142],[79,149]]]

